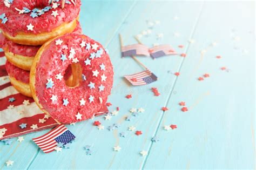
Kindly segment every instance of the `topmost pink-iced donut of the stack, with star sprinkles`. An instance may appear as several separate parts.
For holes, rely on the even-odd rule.
[[[0,29],[14,43],[42,45],[51,38],[72,32],[81,1],[23,0],[0,2]]]

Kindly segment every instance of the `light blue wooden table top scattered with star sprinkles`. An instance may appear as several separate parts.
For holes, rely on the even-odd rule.
[[[44,154],[32,142],[49,130],[24,135],[22,142],[14,138],[11,145],[0,142],[0,168],[255,168],[254,12],[254,2],[83,1],[83,32],[110,51],[114,85],[109,109],[120,111],[111,120],[97,117],[68,125],[77,139],[62,152]],[[143,69],[132,58],[120,57],[119,33],[125,45],[142,35],[142,43],[171,44],[186,57],[138,57],[159,79],[130,86],[123,76]],[[205,73],[210,77],[199,81]],[[160,96],[153,96],[151,87]],[[132,98],[125,98],[127,94]],[[186,102],[187,112],[181,111],[180,101]],[[133,107],[145,112],[126,121]],[[105,129],[92,126],[95,120]],[[114,123],[120,127],[108,131]],[[164,130],[171,124],[177,128]],[[128,131],[129,126],[143,134]],[[154,136],[158,142],[151,141]],[[91,155],[86,155],[85,145],[93,145]],[[119,152],[113,151],[117,145]],[[7,160],[14,164],[5,166]]]

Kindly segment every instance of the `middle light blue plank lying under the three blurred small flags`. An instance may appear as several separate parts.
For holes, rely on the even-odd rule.
[[[170,10],[172,6],[176,6],[176,8]],[[156,25],[152,30],[152,35],[142,38],[142,41],[147,45],[152,45],[152,43],[156,42],[170,43],[178,52],[182,52],[183,50],[178,49],[177,46],[180,43],[186,42],[190,37],[191,28],[196,22],[200,8],[201,3],[191,2],[138,2],[130,12],[130,15],[127,16],[127,19],[125,19],[121,28],[116,32],[122,33],[124,44],[136,43],[133,39],[133,35],[137,35],[140,31],[147,29],[146,20],[160,20],[161,23]],[[173,32],[180,28],[176,25],[176,21],[173,20],[173,17],[177,15],[177,13],[180,13],[179,11],[181,9],[187,10],[189,17],[183,22],[186,24],[186,26],[182,28],[184,32],[183,35],[176,38],[173,36]],[[118,15],[117,13],[108,12],[105,12],[105,15],[106,13],[112,16],[110,18],[114,18]],[[180,13],[180,17],[185,17],[185,14]],[[102,22],[98,21],[97,23],[100,24]],[[99,26],[95,26],[95,28],[98,27]],[[97,30],[91,30],[91,32],[96,34]],[[163,39],[157,40],[156,34],[161,32],[165,33],[165,36]],[[105,121],[103,117],[95,118],[95,120],[100,120],[105,128],[114,123],[118,123],[120,127],[118,130],[110,132],[107,130],[98,131],[97,127],[92,126],[94,120],[84,121],[72,127],[69,126],[70,130],[78,137],[77,141],[71,145],[71,148],[69,150],[63,149],[61,153],[53,152],[44,154],[41,151],[38,153],[35,160],[33,160],[30,168],[36,169],[42,167],[42,165],[44,165],[44,168],[72,169],[130,169],[143,166],[145,157],[141,157],[139,152],[142,150],[149,151],[152,135],[155,133],[161,118],[162,111],[160,108],[165,105],[170,95],[170,89],[176,79],[176,76],[167,73],[167,70],[176,72],[183,58],[179,56],[169,56],[152,60],[151,58],[140,57],[139,60],[148,66],[149,69],[159,77],[159,80],[146,86],[129,86],[126,81],[123,80],[123,76],[125,74],[142,71],[142,68],[129,57],[120,58],[120,46],[117,33],[107,46],[110,51],[115,73],[114,86],[109,101],[113,104],[110,110],[113,111],[116,106],[119,106],[120,112],[117,116],[112,117],[111,121]],[[98,39],[100,39],[100,37]],[[154,86],[158,87],[161,96],[153,96],[151,87]],[[126,94],[132,94],[132,98],[126,99]],[[129,110],[132,107],[143,107],[146,111],[140,113],[138,117],[133,118],[131,121],[125,121],[124,119],[127,115],[130,115]],[[131,125],[136,126],[137,130],[141,130],[143,134],[137,136],[134,132],[127,131],[127,128]],[[125,132],[127,134],[126,137],[120,138],[120,132]],[[86,155],[86,151],[83,149],[85,145],[93,145],[92,155]],[[122,147],[120,152],[113,151],[113,147],[116,145]]]

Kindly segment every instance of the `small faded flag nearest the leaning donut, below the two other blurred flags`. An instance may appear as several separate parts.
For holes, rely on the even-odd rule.
[[[140,86],[153,83],[157,80],[157,76],[150,70],[145,70],[136,74],[124,76],[133,86]]]

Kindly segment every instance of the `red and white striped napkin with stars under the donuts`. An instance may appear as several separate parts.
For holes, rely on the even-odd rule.
[[[4,52],[0,52],[0,140],[57,126],[58,123],[43,113],[32,98],[23,96],[11,85],[5,62]],[[104,105],[95,116],[107,112]]]

